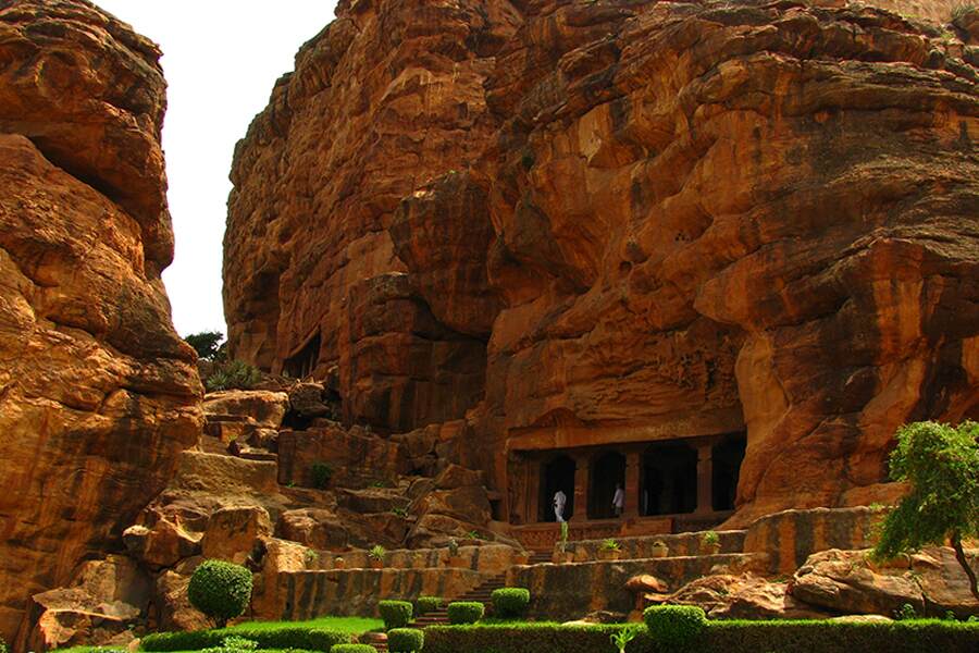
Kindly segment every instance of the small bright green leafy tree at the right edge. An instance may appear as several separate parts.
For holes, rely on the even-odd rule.
[[[908,481],[912,489],[884,519],[873,557],[889,559],[951,540],[979,600],[976,572],[962,547],[964,539],[979,537],[979,423],[901,427],[891,454],[891,478]]]

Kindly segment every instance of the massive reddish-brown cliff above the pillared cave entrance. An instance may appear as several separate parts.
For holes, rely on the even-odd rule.
[[[236,152],[231,347],[337,366],[346,420],[474,407],[499,490],[513,449],[746,431],[732,525],[878,501],[899,424],[979,410],[970,38],[843,0],[342,2]]]

